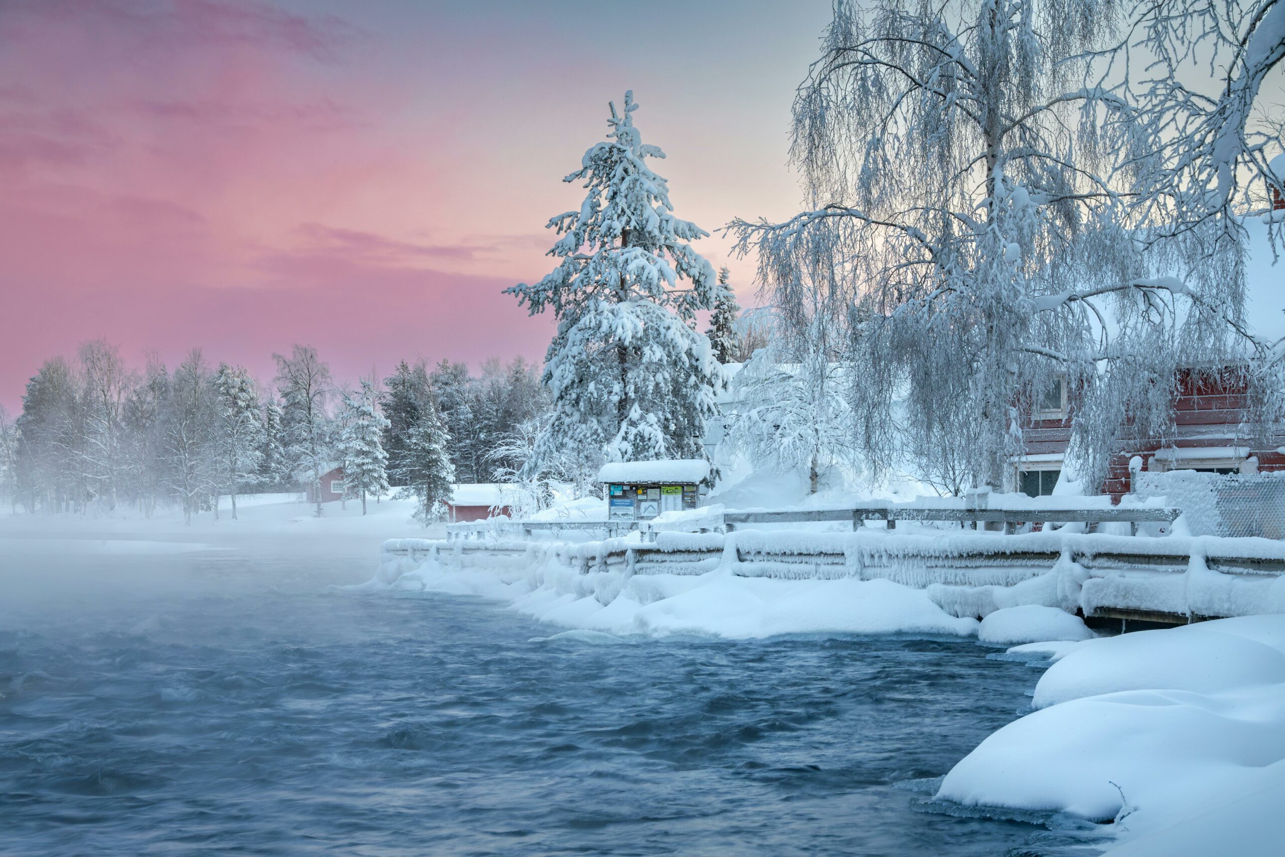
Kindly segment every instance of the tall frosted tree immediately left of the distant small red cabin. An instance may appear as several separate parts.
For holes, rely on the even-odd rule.
[[[330,367],[317,357],[311,346],[294,346],[289,357],[272,355],[276,361],[276,387],[285,407],[285,457],[290,472],[307,479],[321,517],[321,474],[330,463],[329,418]]]

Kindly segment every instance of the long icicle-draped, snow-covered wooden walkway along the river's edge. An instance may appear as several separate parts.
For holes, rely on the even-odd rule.
[[[556,570],[585,581],[586,591],[605,577],[713,572],[798,581],[885,579],[925,590],[946,613],[971,618],[1022,604],[1122,622],[1285,612],[1285,543],[1267,538],[869,529],[662,532],[654,541],[635,535],[582,543],[411,538],[384,543],[377,581],[394,586],[401,574],[423,565],[513,576]]]

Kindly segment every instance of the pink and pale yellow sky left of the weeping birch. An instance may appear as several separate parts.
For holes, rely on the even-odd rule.
[[[829,17],[798,4],[6,0],[0,403],[94,337],[271,376],[544,356],[500,289],[542,276],[560,179],[632,87],[680,217],[793,213],[789,104]],[[752,298],[750,260],[727,242]]]

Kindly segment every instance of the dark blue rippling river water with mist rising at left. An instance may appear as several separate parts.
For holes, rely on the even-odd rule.
[[[377,543],[0,538],[0,852],[1073,842],[925,806],[1038,678],[975,642],[549,639],[483,600],[323,592]]]

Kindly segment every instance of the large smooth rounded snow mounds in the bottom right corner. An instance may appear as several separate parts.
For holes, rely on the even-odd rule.
[[[1078,644],[1033,704],[937,798],[1114,818],[1122,854],[1280,853],[1279,804],[1245,813],[1228,799],[1285,795],[1285,615]],[[1217,844],[1192,851],[1198,840]]]

